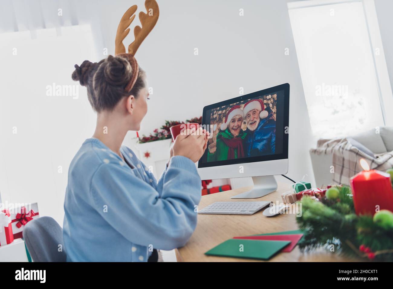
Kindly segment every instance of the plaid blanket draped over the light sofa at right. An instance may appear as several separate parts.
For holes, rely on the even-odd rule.
[[[332,181],[335,184],[349,186],[351,177],[363,171],[363,168],[360,166],[361,158],[365,159],[370,169],[386,171],[393,167],[393,151],[375,155],[375,158],[373,158],[358,150],[346,138],[329,141],[321,140],[321,143],[318,143],[318,148],[312,151],[316,154],[333,154]]]

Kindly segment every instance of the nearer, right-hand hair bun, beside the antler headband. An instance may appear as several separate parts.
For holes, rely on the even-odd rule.
[[[131,79],[132,68],[129,61],[123,57],[109,55],[106,59],[104,75],[110,85],[127,85]]]

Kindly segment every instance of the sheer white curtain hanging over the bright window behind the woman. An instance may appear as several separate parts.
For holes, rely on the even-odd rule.
[[[38,202],[40,215],[49,215],[62,225],[68,167],[95,128],[86,88],[71,79],[73,66],[86,59],[99,61],[106,51],[114,53],[119,17],[113,15],[122,15],[131,4],[125,0],[112,6],[95,0],[2,1],[3,203]],[[143,7],[143,0],[135,4]],[[71,86],[73,93],[50,94],[53,86]]]

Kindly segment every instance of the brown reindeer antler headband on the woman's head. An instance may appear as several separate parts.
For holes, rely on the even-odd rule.
[[[135,40],[128,46],[128,53],[125,52],[125,47],[123,44],[123,40],[130,32],[130,24],[134,20],[136,9],[138,8],[136,5],[131,6],[126,13],[124,13],[123,17],[121,17],[118,31],[116,33],[115,40],[115,56],[122,56],[128,59],[132,68],[132,78],[130,82],[127,84],[125,90],[130,92],[132,87],[134,86],[136,79],[138,78],[139,66],[135,59],[136,50],[138,50],[139,46],[145,40],[146,36],[152,31],[154,25],[156,25],[158,20],[158,15],[160,15],[160,11],[158,10],[158,4],[155,0],[146,0],[145,1],[146,13],[140,12],[139,19],[141,21],[142,28],[139,26],[135,26],[134,35]]]

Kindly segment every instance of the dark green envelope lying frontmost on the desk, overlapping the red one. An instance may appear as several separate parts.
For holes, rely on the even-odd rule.
[[[290,241],[229,239],[213,249],[210,249],[205,254],[268,260],[289,243]]]

